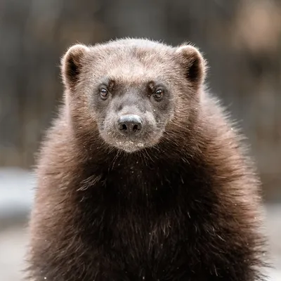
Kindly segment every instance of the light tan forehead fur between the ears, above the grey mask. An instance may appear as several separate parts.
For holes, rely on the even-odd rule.
[[[151,48],[151,47],[150,47]],[[139,46],[100,46],[93,47],[88,57],[87,72],[98,80],[113,79],[122,84],[140,84],[149,81],[167,81],[171,79],[171,70],[176,74],[178,63],[174,61],[174,52],[159,53],[155,48],[149,51]]]

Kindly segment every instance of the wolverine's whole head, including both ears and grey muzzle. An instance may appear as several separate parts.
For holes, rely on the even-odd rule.
[[[70,100],[83,100],[84,112],[98,125],[103,141],[135,152],[164,138],[178,112],[188,119],[190,100],[202,84],[202,65],[200,53],[191,46],[126,39],[70,48],[63,77]],[[84,122],[89,119],[84,117]]]

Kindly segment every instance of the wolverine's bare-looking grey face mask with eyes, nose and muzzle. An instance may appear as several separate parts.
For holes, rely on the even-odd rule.
[[[169,88],[157,81],[105,79],[91,100],[100,136],[126,152],[155,145],[174,112]]]

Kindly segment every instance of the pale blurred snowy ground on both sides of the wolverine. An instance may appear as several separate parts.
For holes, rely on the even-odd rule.
[[[32,206],[34,185],[35,179],[27,171],[0,169],[0,281],[22,280],[26,218]],[[266,211],[266,231],[275,267],[268,270],[269,280],[281,281],[281,202],[266,206]]]

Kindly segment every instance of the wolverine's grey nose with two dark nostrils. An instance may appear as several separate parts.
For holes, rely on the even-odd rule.
[[[138,115],[122,115],[118,120],[118,129],[124,135],[136,135],[141,131],[142,123]]]

